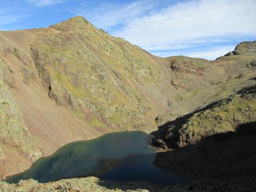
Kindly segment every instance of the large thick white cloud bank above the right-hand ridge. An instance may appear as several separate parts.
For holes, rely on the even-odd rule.
[[[256,34],[256,1],[203,0],[179,3],[131,20],[115,35],[141,46],[187,43],[209,37]]]

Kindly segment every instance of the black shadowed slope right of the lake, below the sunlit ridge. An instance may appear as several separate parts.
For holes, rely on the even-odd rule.
[[[192,177],[191,189],[253,191],[256,181],[256,122],[240,124],[234,132],[218,133],[199,143],[171,152],[160,152],[159,168]]]

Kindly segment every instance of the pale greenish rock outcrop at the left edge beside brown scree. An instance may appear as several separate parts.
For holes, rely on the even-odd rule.
[[[22,112],[9,91],[8,80],[11,74],[4,60],[0,59],[0,140],[1,145],[16,148],[24,156],[36,160],[41,153],[35,139],[23,122]],[[6,82],[7,81],[7,82]],[[0,145],[0,160],[5,156]]]

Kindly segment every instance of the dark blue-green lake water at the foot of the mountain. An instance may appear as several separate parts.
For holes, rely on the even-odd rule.
[[[25,172],[7,177],[9,183],[33,178],[39,182],[96,176],[111,181],[150,181],[162,185],[185,183],[152,164],[152,135],[142,131],[114,132],[88,141],[76,141],[34,162]]]

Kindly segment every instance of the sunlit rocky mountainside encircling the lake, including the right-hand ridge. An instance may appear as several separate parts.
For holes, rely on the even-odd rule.
[[[255,45],[243,42],[216,61],[160,58],[81,16],[1,31],[0,176],[107,132],[151,132],[170,122],[155,144],[177,148],[253,121],[254,96],[236,91],[253,82]]]

